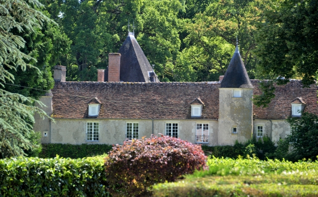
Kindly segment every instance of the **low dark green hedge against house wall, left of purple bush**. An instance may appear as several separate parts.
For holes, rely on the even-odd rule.
[[[39,157],[54,158],[56,155],[60,155],[65,158],[84,158],[108,153],[112,147],[113,145],[109,144],[42,144],[42,151],[39,153]]]

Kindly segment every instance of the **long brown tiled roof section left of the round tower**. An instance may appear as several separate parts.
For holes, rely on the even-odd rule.
[[[102,103],[98,118],[190,119],[189,103],[200,96],[201,119],[219,116],[218,82],[56,82],[52,92],[54,118],[88,118],[87,102]]]

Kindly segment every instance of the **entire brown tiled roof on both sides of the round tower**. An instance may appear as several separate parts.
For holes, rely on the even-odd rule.
[[[260,94],[259,80],[251,80]],[[98,118],[190,119],[190,103],[200,97],[205,107],[201,119],[219,117],[219,82],[56,82],[53,92],[54,118],[87,118],[88,105],[97,97],[102,103]],[[254,106],[254,118],[286,119],[291,101],[302,97],[305,111],[318,114],[317,84],[303,88],[298,80],[276,86],[276,97],[267,108]]]

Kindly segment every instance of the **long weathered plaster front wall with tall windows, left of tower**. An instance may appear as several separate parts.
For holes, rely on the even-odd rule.
[[[151,119],[56,119],[51,125],[51,143],[106,143],[122,144],[126,123],[139,123],[139,138],[150,137],[153,132]],[[87,122],[99,122],[99,141],[86,141]],[[165,133],[165,123],[178,123],[178,137],[195,143],[196,123],[209,123],[210,140],[206,145],[217,145],[218,121],[216,120],[154,120],[154,134]]]

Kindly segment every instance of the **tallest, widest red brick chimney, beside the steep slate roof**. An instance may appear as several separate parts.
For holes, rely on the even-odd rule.
[[[120,57],[119,53],[108,54],[108,81],[120,81]]]

